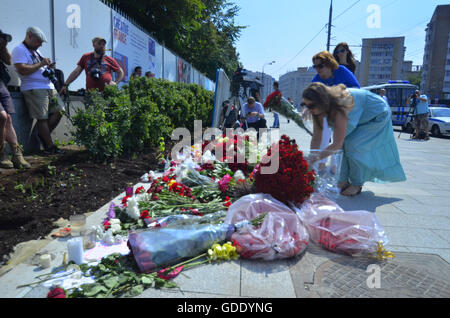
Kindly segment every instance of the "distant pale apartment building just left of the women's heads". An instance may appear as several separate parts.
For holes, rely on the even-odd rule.
[[[280,76],[280,90],[283,97],[292,98],[294,106],[300,107],[304,89],[311,84],[317,72],[312,67],[299,67],[296,71]]]

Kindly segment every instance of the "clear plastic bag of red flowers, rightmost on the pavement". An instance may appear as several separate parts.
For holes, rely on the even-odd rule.
[[[336,203],[314,193],[300,207],[292,206],[311,240],[323,248],[352,256],[377,253],[388,243],[376,215],[368,211],[344,212]]]

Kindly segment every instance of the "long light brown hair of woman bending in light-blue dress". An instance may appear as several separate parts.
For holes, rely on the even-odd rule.
[[[321,113],[325,113],[329,121],[334,121],[338,112],[348,118],[348,113],[353,109],[355,102],[344,84],[326,86],[319,82],[310,84],[303,91],[303,98],[310,100]],[[319,116],[313,115],[313,120],[320,128],[323,128]]]

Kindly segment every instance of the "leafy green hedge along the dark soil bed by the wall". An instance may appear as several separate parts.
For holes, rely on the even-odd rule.
[[[87,93],[86,109],[73,117],[74,139],[99,159],[154,147],[173,129],[211,122],[214,94],[197,84],[139,78],[122,89]]]

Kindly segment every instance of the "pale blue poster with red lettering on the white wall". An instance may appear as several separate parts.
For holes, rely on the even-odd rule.
[[[136,67],[142,68],[142,76],[147,72],[156,73],[156,42],[144,31],[137,28],[125,17],[113,10],[114,58],[124,70],[122,82],[128,83]]]

